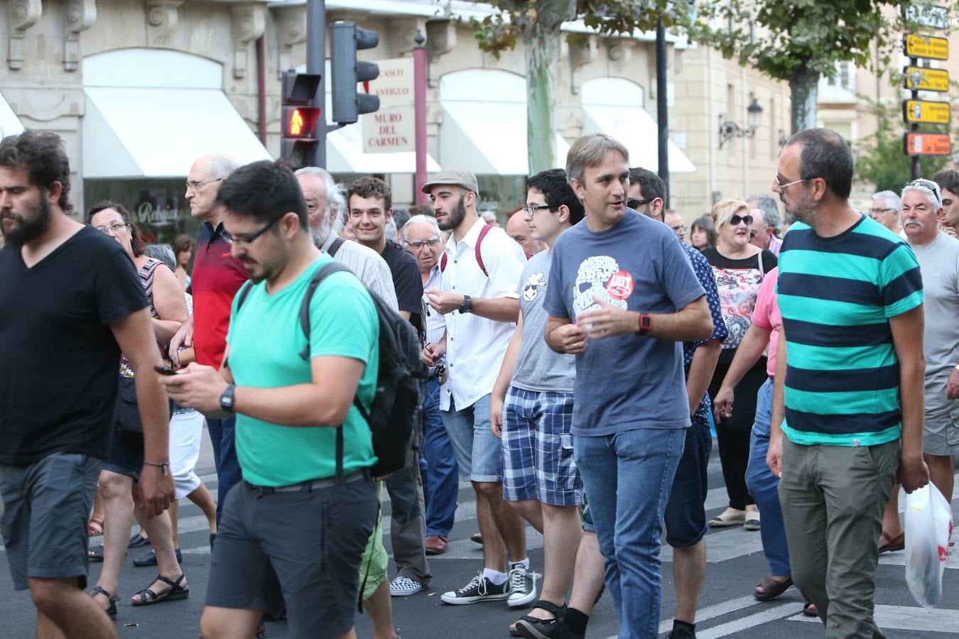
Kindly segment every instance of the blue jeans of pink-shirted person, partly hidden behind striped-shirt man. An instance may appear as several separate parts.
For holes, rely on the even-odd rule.
[[[749,466],[746,467],[746,486],[756,498],[762,513],[762,552],[769,561],[769,574],[785,577],[789,569],[789,548],[785,542],[783,508],[779,503],[779,477],[766,466],[769,450],[769,422],[773,418],[773,379],[760,386],[756,396],[756,423],[750,438]]]

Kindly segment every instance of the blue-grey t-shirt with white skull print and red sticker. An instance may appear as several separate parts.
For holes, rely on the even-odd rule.
[[[672,230],[628,209],[611,229],[594,233],[584,219],[556,240],[545,308],[575,322],[594,298],[655,314],[705,294]],[[690,425],[681,342],[629,333],[590,339],[575,357],[573,435]]]

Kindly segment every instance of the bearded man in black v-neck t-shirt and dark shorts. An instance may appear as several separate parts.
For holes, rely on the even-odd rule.
[[[174,496],[169,406],[133,264],[116,241],[68,217],[69,190],[57,135],[0,142],[0,523],[13,586],[29,588],[37,607],[37,636],[116,637],[80,588],[121,351],[137,374],[148,464],[139,499],[151,515]]]

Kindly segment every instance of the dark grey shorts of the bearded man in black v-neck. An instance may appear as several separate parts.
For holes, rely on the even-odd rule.
[[[86,587],[86,521],[103,460],[54,453],[30,466],[0,464],[0,520],[13,588],[29,577],[76,578]]]

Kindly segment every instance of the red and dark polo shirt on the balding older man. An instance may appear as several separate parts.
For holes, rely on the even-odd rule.
[[[193,346],[199,364],[220,368],[233,296],[248,278],[243,262],[230,255],[230,241],[223,235],[223,225],[214,230],[212,224],[203,222],[190,280]]]

